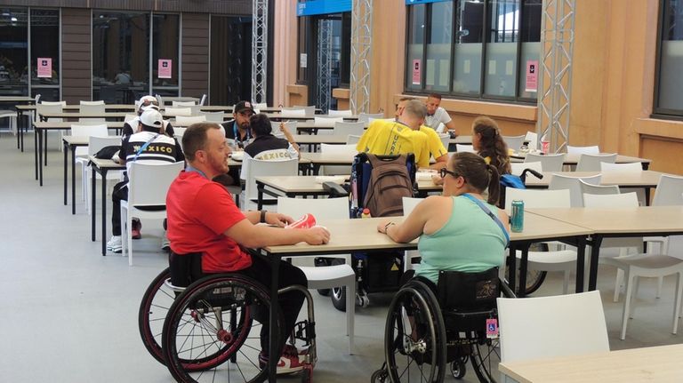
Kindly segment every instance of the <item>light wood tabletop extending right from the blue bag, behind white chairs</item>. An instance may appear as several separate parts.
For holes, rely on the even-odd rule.
[[[543,179],[535,177],[526,178],[528,188],[548,188],[553,174],[567,177],[591,177],[602,174],[600,185],[617,185],[625,188],[654,188],[659,183],[659,178],[663,172],[642,171],[642,172],[544,172]]]

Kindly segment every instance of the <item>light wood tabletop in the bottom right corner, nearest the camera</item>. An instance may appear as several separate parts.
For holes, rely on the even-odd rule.
[[[678,383],[681,360],[683,345],[671,345],[500,363],[498,369],[519,383]]]

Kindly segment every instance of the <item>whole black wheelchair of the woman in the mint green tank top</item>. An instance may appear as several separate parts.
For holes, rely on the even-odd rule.
[[[514,297],[498,268],[439,273],[438,285],[415,277],[389,307],[385,362],[372,382],[442,382],[449,369],[462,379],[469,361],[482,383],[495,382],[500,362],[495,299]]]

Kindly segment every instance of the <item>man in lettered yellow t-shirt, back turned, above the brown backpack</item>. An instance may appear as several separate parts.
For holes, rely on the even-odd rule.
[[[378,156],[413,153],[420,168],[430,166],[430,148],[427,135],[420,132],[427,108],[418,100],[406,102],[397,122],[375,120],[358,140],[359,152]]]

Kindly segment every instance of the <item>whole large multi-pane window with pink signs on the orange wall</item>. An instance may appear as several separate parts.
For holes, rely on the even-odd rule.
[[[450,0],[408,6],[406,92],[534,102],[542,0]]]

